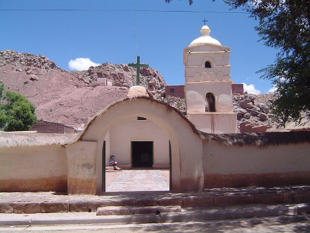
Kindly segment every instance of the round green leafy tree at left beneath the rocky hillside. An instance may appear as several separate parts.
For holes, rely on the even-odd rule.
[[[0,84],[0,130],[29,130],[37,122],[35,107],[21,94],[6,91]]]

